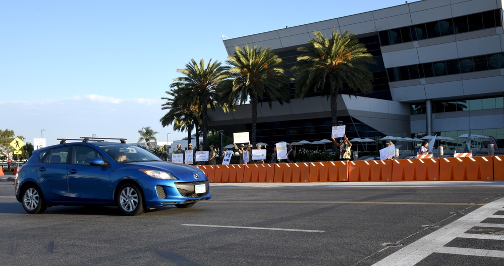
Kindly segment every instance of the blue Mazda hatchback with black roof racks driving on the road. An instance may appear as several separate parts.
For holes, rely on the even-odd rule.
[[[105,141],[110,139],[61,140],[34,150],[18,168],[16,198],[30,214],[56,205],[115,205],[134,216],[211,198],[208,178],[196,167],[164,162],[135,145]]]

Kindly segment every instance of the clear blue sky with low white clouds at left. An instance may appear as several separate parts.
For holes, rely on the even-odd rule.
[[[0,129],[26,142],[123,137],[151,127],[191,58],[227,59],[222,35],[241,37],[333,19],[404,1],[2,1]],[[6,119],[7,118],[7,119]]]

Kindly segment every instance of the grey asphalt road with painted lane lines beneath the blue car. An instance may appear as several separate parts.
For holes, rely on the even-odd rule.
[[[504,265],[504,182],[211,184],[136,217],[29,215],[0,179],[2,265]]]

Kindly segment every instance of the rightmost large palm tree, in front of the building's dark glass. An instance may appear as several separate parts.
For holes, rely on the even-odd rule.
[[[322,91],[330,96],[332,126],[338,125],[338,94],[350,88],[357,93],[368,94],[373,90],[373,74],[369,64],[375,64],[364,44],[355,39],[354,33],[345,30],[342,35],[336,29],[330,39],[316,31],[311,45],[299,47],[303,55],[293,67],[296,77],[296,96],[303,99],[311,92]]]

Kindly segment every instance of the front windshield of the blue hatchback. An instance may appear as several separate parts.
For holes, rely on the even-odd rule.
[[[162,161],[156,155],[150,153],[144,148],[134,145],[98,145],[108,155],[113,157],[118,162],[133,163],[133,162],[151,162]]]

